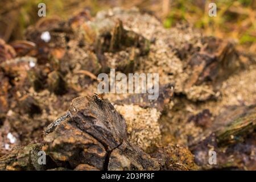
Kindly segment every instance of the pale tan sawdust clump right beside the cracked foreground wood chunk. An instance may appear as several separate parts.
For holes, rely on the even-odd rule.
[[[162,137],[158,119],[160,112],[155,108],[143,109],[137,105],[115,105],[127,124],[128,140],[144,151],[152,151]]]

